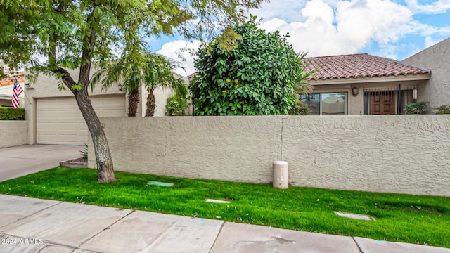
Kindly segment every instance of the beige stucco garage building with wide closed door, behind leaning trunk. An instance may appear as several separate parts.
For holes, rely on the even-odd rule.
[[[69,71],[77,80],[78,70]],[[93,74],[95,70],[91,71]],[[174,74],[187,82],[187,78]],[[87,143],[88,129],[86,122],[72,93],[66,89],[58,90],[58,80],[54,77],[39,75],[37,82],[29,83],[25,77],[25,119],[28,122],[28,143],[37,144],[70,144]],[[94,91],[89,89],[91,103],[98,117],[126,117],[128,99],[119,83],[107,91],[97,85]],[[154,91],[156,108],[155,116],[165,115],[166,99],[174,94],[172,89],[156,89]],[[138,116],[145,116],[148,92],[141,87]]]

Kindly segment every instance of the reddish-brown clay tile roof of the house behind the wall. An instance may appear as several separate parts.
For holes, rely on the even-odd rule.
[[[430,74],[425,68],[367,53],[304,58],[303,63],[307,64],[307,71],[318,68],[309,78],[312,80]]]

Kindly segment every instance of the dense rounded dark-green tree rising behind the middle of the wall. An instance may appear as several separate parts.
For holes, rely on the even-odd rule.
[[[214,40],[198,52],[191,82],[194,115],[285,115],[310,86],[302,59],[278,31],[257,27],[256,17],[234,28],[240,38],[224,50]]]

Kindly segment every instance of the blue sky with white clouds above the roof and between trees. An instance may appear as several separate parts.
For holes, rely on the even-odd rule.
[[[295,51],[307,56],[369,53],[403,60],[450,37],[450,0],[272,0],[250,13],[260,27],[289,32]],[[181,48],[198,41],[181,37],[151,39],[153,51],[177,58]],[[184,76],[195,72],[184,53]]]

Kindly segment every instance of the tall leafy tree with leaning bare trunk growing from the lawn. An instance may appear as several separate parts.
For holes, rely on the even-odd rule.
[[[60,89],[70,89],[94,142],[98,181],[115,181],[108,141],[88,94],[92,63],[108,62],[117,48],[130,50],[143,34],[203,39],[243,20],[262,1],[0,0],[0,58],[10,67],[25,64],[29,79],[49,74],[60,80]],[[130,59],[145,64],[135,52]],[[68,69],[79,69],[77,81]]]

